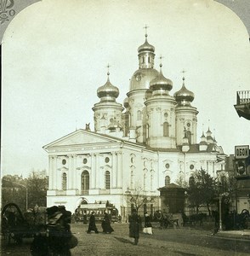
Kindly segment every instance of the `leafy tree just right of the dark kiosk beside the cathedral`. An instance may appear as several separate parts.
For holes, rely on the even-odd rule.
[[[216,183],[213,177],[211,177],[204,170],[197,170],[190,177],[190,183],[188,188],[188,198],[190,204],[195,207],[196,213],[199,212],[199,208],[203,205],[207,205],[207,210],[210,213],[210,204],[213,202],[214,197],[217,195]]]

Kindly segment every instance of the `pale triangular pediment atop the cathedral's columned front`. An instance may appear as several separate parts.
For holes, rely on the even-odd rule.
[[[60,139],[54,141],[53,143],[49,143],[43,148],[48,149],[48,148],[59,148],[59,147],[76,146],[76,145],[114,143],[116,141],[117,141],[116,139],[106,137],[105,135],[101,135],[93,131],[77,130],[65,137],[61,137]]]

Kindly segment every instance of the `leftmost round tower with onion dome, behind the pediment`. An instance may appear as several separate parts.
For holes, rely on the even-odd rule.
[[[109,68],[109,66],[108,66]],[[111,84],[109,71],[107,82],[97,90],[100,101],[94,104],[94,131],[98,133],[111,133],[122,131],[122,104],[116,102],[119,90]]]

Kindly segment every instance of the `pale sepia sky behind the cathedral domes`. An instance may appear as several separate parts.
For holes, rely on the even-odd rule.
[[[145,24],[171,95],[186,71],[197,142],[209,125],[225,154],[250,143],[250,123],[234,108],[236,90],[250,87],[250,44],[230,9],[213,0],[43,0],[16,15],[3,36],[2,175],[48,170],[44,145],[89,122],[94,131],[91,108],[108,63],[123,102]]]

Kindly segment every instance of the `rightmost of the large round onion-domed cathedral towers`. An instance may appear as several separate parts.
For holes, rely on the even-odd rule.
[[[175,108],[176,114],[176,143],[182,145],[184,138],[189,144],[196,144],[197,114],[190,102],[195,98],[194,93],[185,88],[185,77],[180,90],[173,95],[178,102]]]

